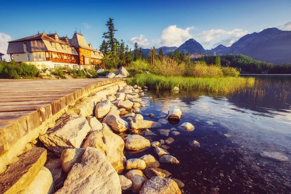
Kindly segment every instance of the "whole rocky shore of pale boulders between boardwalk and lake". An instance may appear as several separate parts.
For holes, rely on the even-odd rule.
[[[167,119],[153,122],[140,114],[147,87],[115,84],[70,106],[24,153],[15,157],[0,175],[5,194],[181,194],[184,184],[163,170],[160,163],[179,164],[167,149],[179,135],[177,129],[159,129]],[[90,102],[96,102],[92,106]],[[88,105],[91,104],[91,105]],[[177,106],[169,120],[179,120]],[[167,115],[166,115],[167,117]],[[194,130],[190,123],[180,126]],[[155,129],[155,131],[151,131]],[[146,136],[140,135],[146,133]],[[151,135],[165,138],[152,141]],[[194,143],[196,146],[196,143]],[[156,155],[125,157],[125,152]],[[175,166],[173,166],[175,168]]]

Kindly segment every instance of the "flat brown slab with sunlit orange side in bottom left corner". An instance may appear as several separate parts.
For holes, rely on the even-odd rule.
[[[0,193],[17,194],[27,188],[47,160],[47,150],[35,147],[21,154],[0,176]]]

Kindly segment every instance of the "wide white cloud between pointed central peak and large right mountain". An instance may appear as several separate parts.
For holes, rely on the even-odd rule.
[[[215,43],[214,46],[223,44],[229,47],[247,33],[249,32],[244,31],[242,29],[233,29],[232,31],[225,31],[222,29],[218,29],[218,30],[212,29],[210,31],[204,31],[204,32],[195,34],[195,36],[197,36],[197,41],[198,42],[200,41],[203,45],[210,45],[212,41],[220,39],[220,41]]]

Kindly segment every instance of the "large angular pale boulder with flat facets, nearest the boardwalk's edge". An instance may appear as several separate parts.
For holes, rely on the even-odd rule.
[[[67,114],[56,121],[56,126],[49,129],[39,139],[58,156],[68,148],[80,148],[84,138],[90,131],[85,117]]]

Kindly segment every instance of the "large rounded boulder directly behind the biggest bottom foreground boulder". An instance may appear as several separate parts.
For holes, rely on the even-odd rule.
[[[91,133],[82,145],[83,148],[95,147],[102,152],[106,159],[112,164],[118,174],[125,168],[126,158],[124,156],[124,141],[110,129],[104,128]]]

